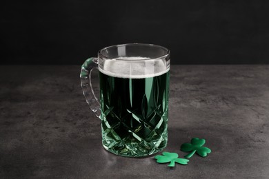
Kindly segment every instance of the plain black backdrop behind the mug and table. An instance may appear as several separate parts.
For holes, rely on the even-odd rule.
[[[269,63],[269,1],[5,1],[0,64],[81,65],[108,45],[154,43],[172,64]]]

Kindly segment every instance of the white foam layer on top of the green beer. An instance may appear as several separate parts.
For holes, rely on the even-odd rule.
[[[118,78],[150,78],[165,74],[169,71],[169,67],[167,68],[166,61],[161,59],[120,56],[117,59],[104,61],[103,69],[99,67],[99,71]]]

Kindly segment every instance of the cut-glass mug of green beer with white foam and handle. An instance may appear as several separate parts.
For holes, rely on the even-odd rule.
[[[98,65],[99,93],[90,74]],[[119,156],[140,157],[164,149],[168,140],[170,51],[130,43],[99,50],[81,68],[81,87],[101,119],[103,147]]]

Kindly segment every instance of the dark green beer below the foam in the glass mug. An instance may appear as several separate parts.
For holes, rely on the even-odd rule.
[[[99,72],[103,147],[120,156],[148,156],[167,144],[169,72],[117,78]]]

